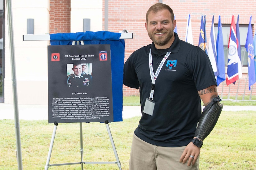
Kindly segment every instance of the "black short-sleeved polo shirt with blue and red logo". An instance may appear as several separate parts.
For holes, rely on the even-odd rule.
[[[163,147],[181,147],[191,142],[201,115],[197,91],[217,86],[206,53],[179,40],[176,33],[174,36],[169,49],[157,50],[152,43],[133,52],[124,64],[124,85],[140,89],[142,116],[134,133],[145,142]],[[153,116],[143,113],[152,82],[149,72],[150,47],[154,73],[166,52],[171,52],[155,81]]]

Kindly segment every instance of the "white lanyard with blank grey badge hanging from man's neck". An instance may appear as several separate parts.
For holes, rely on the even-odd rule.
[[[150,116],[153,115],[153,111],[154,111],[154,107],[155,107],[155,101],[153,101],[153,96],[154,96],[154,91],[155,91],[155,80],[157,79],[157,76],[159,75],[160,70],[162,69],[162,67],[164,65],[164,62],[169,57],[170,53],[171,52],[167,52],[165,54],[164,58],[162,59],[160,65],[158,66],[158,68],[154,74],[151,48],[149,51],[149,71],[150,71],[150,77],[151,77],[152,82],[151,82],[150,96],[149,96],[149,98],[146,98],[143,113],[146,113]]]

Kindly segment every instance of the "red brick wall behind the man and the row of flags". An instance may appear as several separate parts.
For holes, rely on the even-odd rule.
[[[141,1],[127,1],[127,0],[108,0],[108,30],[111,32],[119,32],[123,29],[128,32],[133,32],[133,39],[125,40],[125,60],[136,49],[148,45],[151,40],[148,38],[145,22],[146,11],[148,8],[157,3],[158,0],[141,0]],[[240,14],[239,24],[249,24],[250,15],[255,14],[256,3],[251,3],[250,0],[215,0],[215,1],[194,1],[194,0],[165,0],[165,4],[169,5],[177,20],[177,31],[181,40],[185,39],[187,15],[191,14],[192,32],[194,38],[194,45],[198,45],[199,30],[201,15],[206,15],[206,35],[209,37],[210,25],[212,16],[214,15],[214,23],[218,23],[218,15],[221,15],[222,24],[230,24],[232,15],[236,17]],[[103,30],[104,30],[104,13],[105,0],[103,0]],[[253,15],[252,24],[256,23],[256,15]],[[255,27],[253,27],[253,30]],[[209,38],[208,38],[209,39]],[[236,84],[229,86],[224,82],[223,95],[236,96],[236,91],[239,84],[239,93],[241,96],[244,94],[249,95],[248,82],[246,83],[247,74],[243,74],[243,77]],[[253,89],[253,95],[256,95],[256,85]],[[230,91],[230,92],[229,92]],[[222,93],[222,83],[218,87],[219,94]],[[138,90],[134,90],[124,86],[124,96],[139,95]]]

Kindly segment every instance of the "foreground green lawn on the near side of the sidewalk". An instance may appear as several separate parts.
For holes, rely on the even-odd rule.
[[[139,117],[109,123],[122,169],[128,170],[133,130]],[[0,120],[0,169],[17,169],[13,120]],[[223,111],[212,133],[204,140],[200,169],[256,169],[256,111]],[[23,169],[44,169],[53,124],[47,121],[20,121]],[[81,161],[79,123],[57,126],[50,164]],[[115,155],[102,123],[83,123],[83,161],[115,161]],[[114,170],[116,164],[84,164],[84,169]],[[49,170],[81,169],[81,165],[49,167]]]

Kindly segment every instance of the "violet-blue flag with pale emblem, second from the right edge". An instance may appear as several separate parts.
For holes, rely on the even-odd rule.
[[[252,16],[250,17],[247,38],[245,43],[245,48],[248,53],[248,77],[249,77],[249,90],[251,86],[255,83],[255,66],[254,66],[254,47],[253,47],[253,32],[252,32]]]

